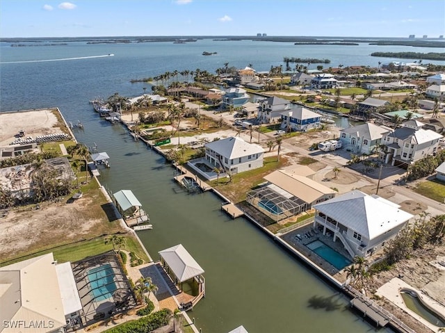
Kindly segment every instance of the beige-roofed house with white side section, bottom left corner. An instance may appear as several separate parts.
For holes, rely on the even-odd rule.
[[[0,332],[64,333],[80,323],[82,304],[70,263],[58,264],[52,252],[1,267],[0,291]],[[6,326],[14,323],[16,329]]]

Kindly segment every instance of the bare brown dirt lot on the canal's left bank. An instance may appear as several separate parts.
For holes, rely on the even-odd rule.
[[[106,200],[97,189],[76,201],[65,197],[39,206],[12,209],[0,218],[1,261],[121,230],[118,221],[109,222]]]

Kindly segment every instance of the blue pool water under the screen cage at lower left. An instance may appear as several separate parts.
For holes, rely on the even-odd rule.
[[[88,271],[88,280],[96,301],[113,297],[113,292],[117,289],[113,278],[113,268],[109,263]]]

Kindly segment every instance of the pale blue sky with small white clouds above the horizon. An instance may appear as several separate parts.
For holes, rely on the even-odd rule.
[[[444,0],[0,0],[0,37],[445,35]]]

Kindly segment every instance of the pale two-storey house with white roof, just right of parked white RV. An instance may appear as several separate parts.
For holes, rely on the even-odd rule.
[[[371,122],[341,129],[339,140],[342,147],[356,154],[372,154],[380,145],[383,133],[387,133],[387,127],[380,127]]]

